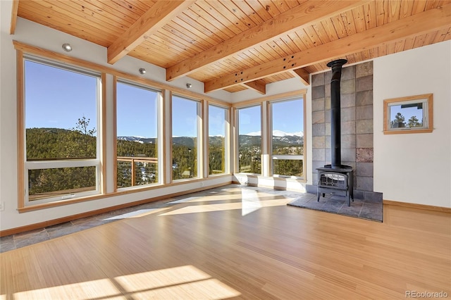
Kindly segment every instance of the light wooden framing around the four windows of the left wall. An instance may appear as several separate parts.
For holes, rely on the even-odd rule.
[[[18,42],[16,40],[13,40],[13,45],[14,48],[16,49],[16,68],[17,68],[17,111],[18,111],[18,118],[17,118],[17,128],[18,128],[18,135],[17,135],[17,139],[18,141],[23,141],[23,137],[24,137],[24,132],[21,131],[24,128],[23,125],[23,115],[20,114],[20,112],[23,111],[23,97],[24,97],[24,89],[23,89],[23,82],[24,82],[24,78],[23,78],[23,55],[24,54],[30,54],[32,56],[37,56],[40,58],[44,58],[47,59],[49,61],[54,61],[57,64],[62,64],[62,65],[68,65],[73,66],[75,68],[84,68],[87,70],[92,70],[94,72],[97,73],[101,73],[101,108],[99,108],[99,111],[101,111],[101,120],[100,120],[100,125],[99,128],[97,128],[99,135],[103,138],[100,139],[100,146],[101,146],[101,151],[99,154],[99,159],[101,159],[101,175],[99,180],[101,181],[101,193],[100,194],[96,194],[93,196],[84,196],[84,197],[80,197],[77,199],[68,199],[68,200],[64,200],[64,201],[56,201],[56,202],[49,202],[49,203],[44,203],[44,204],[33,204],[30,206],[25,206],[25,195],[24,195],[24,191],[25,191],[25,182],[24,182],[24,161],[23,161],[23,157],[24,157],[24,149],[23,147],[20,146],[20,142],[18,142],[18,156],[17,156],[17,165],[18,165],[18,212],[19,213],[26,213],[29,211],[37,211],[40,209],[46,209],[46,208],[53,208],[53,207],[57,207],[57,206],[65,206],[68,204],[75,204],[75,203],[80,203],[80,202],[84,202],[84,201],[94,201],[94,200],[101,200],[101,199],[107,199],[111,196],[122,196],[122,195],[127,195],[127,194],[134,194],[135,192],[145,192],[145,191],[156,191],[158,189],[160,189],[161,187],[171,187],[171,186],[178,186],[178,185],[183,185],[185,183],[185,181],[183,180],[178,180],[177,182],[171,182],[170,178],[167,177],[167,175],[165,174],[163,177],[163,181],[161,182],[161,185],[151,185],[151,186],[146,186],[146,187],[142,187],[140,189],[127,189],[127,190],[121,190],[121,191],[117,191],[117,189],[115,189],[113,187],[113,182],[116,182],[116,178],[113,178],[113,175],[115,174],[115,172],[111,173],[111,177],[109,177],[109,174],[107,173],[107,167],[106,165],[108,163],[113,163],[113,161],[115,161],[116,159],[111,159],[110,157],[107,159],[107,152],[109,153],[109,149],[107,149],[106,146],[106,137],[113,137],[116,135],[116,129],[111,128],[110,126],[107,126],[107,120],[106,120],[106,111],[107,111],[107,99],[106,99],[106,90],[107,89],[111,89],[112,95],[110,96],[110,98],[112,97],[112,99],[116,99],[116,85],[114,85],[114,80],[116,80],[117,78],[121,78],[124,80],[130,80],[131,82],[135,82],[137,84],[142,84],[142,85],[146,85],[148,87],[151,87],[152,89],[161,89],[162,95],[163,95],[163,107],[161,109],[161,122],[162,122],[162,130],[163,132],[166,132],[167,129],[166,127],[171,127],[171,114],[169,113],[169,111],[171,111],[171,101],[170,101],[170,97],[171,95],[174,93],[176,93],[178,96],[181,96],[183,98],[188,98],[188,99],[192,99],[192,100],[197,100],[199,102],[201,102],[202,105],[202,115],[204,116],[206,113],[206,105],[207,103],[209,104],[216,104],[218,106],[223,106],[224,108],[228,108],[228,128],[227,128],[227,140],[228,140],[228,148],[226,149],[226,151],[228,151],[228,164],[226,165],[226,167],[228,168],[225,174],[220,174],[220,175],[215,175],[214,178],[219,178],[219,177],[228,177],[233,173],[233,166],[235,163],[235,156],[232,155],[233,152],[235,151],[235,148],[233,147],[233,142],[232,142],[232,134],[235,130],[235,128],[233,127],[234,124],[234,114],[235,113],[235,108],[233,108],[233,104],[228,104],[224,101],[220,101],[218,99],[214,99],[211,98],[209,96],[206,96],[204,94],[198,94],[196,92],[192,92],[192,91],[188,91],[186,89],[180,88],[180,87],[175,87],[172,85],[167,85],[161,82],[156,82],[154,80],[150,80],[149,78],[144,78],[142,76],[137,76],[137,75],[132,75],[130,73],[125,73],[123,71],[120,70],[116,70],[114,68],[108,67],[106,65],[99,65],[98,63],[92,63],[90,61],[85,61],[82,60],[80,58],[75,58],[73,56],[70,56],[68,54],[59,54],[55,51],[49,51],[47,49],[42,49],[40,47],[37,46],[32,46],[30,44],[25,44],[22,42]],[[110,79],[109,76],[112,76],[112,80]],[[112,85],[112,87],[110,86]],[[271,97],[276,97],[276,96],[270,96]],[[111,100],[111,99],[110,99]],[[253,103],[257,103],[257,100],[253,100]],[[115,101],[108,101],[109,105],[111,105],[113,107],[113,111],[116,111],[116,103]],[[245,101],[246,104],[249,104],[249,101]],[[243,102],[241,102],[240,104],[243,104]],[[110,108],[108,108],[110,109]],[[112,118],[114,118],[113,115],[111,115]],[[208,120],[202,120],[202,128],[200,130],[202,130],[202,132],[205,132],[205,126],[206,123],[208,122]],[[108,121],[108,124],[116,124],[116,120],[110,120]],[[199,149],[199,151],[206,151],[206,145],[204,144],[204,137],[205,135],[202,135],[202,139],[200,139],[201,143],[203,144],[201,149]],[[171,135],[168,134],[163,134],[162,137],[162,141],[161,143],[163,144],[162,147],[162,154],[159,155],[159,157],[163,160],[161,165],[163,170],[167,173],[167,171],[171,170],[171,167],[168,165],[168,160],[169,160],[169,153],[171,153],[171,143],[170,143],[170,139],[171,139]],[[114,154],[116,154],[116,151],[113,152]],[[196,179],[192,179],[190,180],[191,182],[199,182],[200,183],[200,187],[203,186],[203,180],[208,179],[206,177],[206,173],[204,171],[205,165],[206,165],[206,156],[202,156],[202,160],[199,161],[199,163],[201,164],[201,166],[199,167],[200,171],[203,172],[203,176],[202,177],[198,177]],[[111,168],[111,167],[109,167]],[[113,166],[113,168],[115,168],[115,166]],[[109,185],[107,182],[111,183],[111,185]],[[108,188],[109,186],[109,188]],[[172,195],[178,195],[178,194],[185,194],[184,192],[178,192]],[[161,197],[156,197],[155,199],[160,199]],[[145,203],[149,201],[148,199],[144,199],[144,200],[140,200],[135,202],[135,204],[137,203]],[[123,204],[124,207],[130,206],[131,204]],[[121,206],[122,207],[122,206]]]

